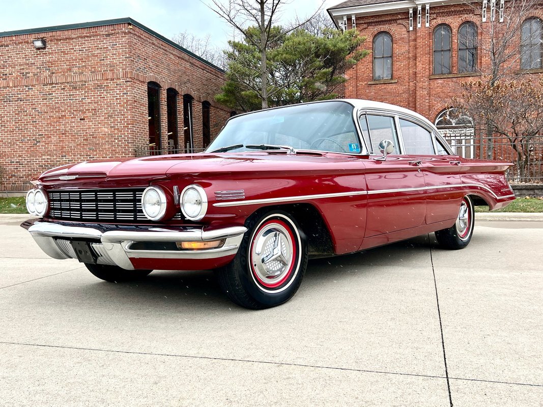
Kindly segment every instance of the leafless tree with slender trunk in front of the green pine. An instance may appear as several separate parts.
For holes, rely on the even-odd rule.
[[[286,35],[311,20],[320,11],[324,0],[320,0],[319,8],[304,21],[298,21],[287,29],[274,29],[279,17],[280,5],[286,0],[210,0],[207,7],[235,28],[260,53],[260,90],[258,96],[262,100],[262,109],[268,107],[269,86],[267,51],[270,43],[277,40],[278,35]],[[248,28],[254,26],[260,35],[252,35]]]

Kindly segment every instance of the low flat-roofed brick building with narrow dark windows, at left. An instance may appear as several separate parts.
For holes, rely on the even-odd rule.
[[[131,18],[0,33],[0,190],[70,162],[199,151],[230,116],[224,80]]]

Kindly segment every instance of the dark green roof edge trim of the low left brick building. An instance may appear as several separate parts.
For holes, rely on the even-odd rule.
[[[192,58],[195,58],[198,61],[205,63],[205,65],[210,66],[210,67],[212,67],[214,69],[217,69],[217,71],[224,73],[224,69],[219,68],[217,65],[214,65],[213,63],[211,63],[210,61],[207,61],[204,58],[201,58],[201,56],[194,54],[193,52],[189,51],[188,49],[186,49],[184,47],[181,47],[178,43],[173,42],[170,39],[167,39],[165,36],[160,35],[159,33],[156,33],[156,31],[151,30],[150,28],[144,26],[141,23],[138,23],[136,20],[133,20],[130,17],[115,18],[113,20],[90,21],[90,22],[79,23],[79,24],[65,24],[63,26],[28,28],[28,29],[15,30],[15,31],[4,31],[4,32],[0,33],[0,37],[9,37],[9,36],[12,36],[12,35],[50,33],[52,31],[73,30],[73,29],[78,29],[78,28],[112,26],[113,24],[132,24],[132,26],[138,27],[138,28],[142,29],[143,31],[146,31],[146,33],[156,37],[157,39],[166,42],[167,44],[171,45],[174,48],[179,49],[180,51],[184,52],[187,55],[192,56]]]

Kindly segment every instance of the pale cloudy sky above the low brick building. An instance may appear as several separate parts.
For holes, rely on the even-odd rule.
[[[225,0],[226,1],[226,0]],[[324,8],[342,0],[326,0]],[[209,0],[203,0],[209,3]],[[200,0],[5,0],[0,13],[0,31],[75,24],[110,18],[131,17],[151,30],[171,38],[188,30],[211,40],[220,48],[232,29]],[[321,0],[289,0],[282,8],[283,22],[311,15]]]

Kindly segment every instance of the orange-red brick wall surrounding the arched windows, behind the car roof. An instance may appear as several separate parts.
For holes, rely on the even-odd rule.
[[[490,2],[489,2],[490,3]],[[479,40],[485,41],[483,31],[488,30],[489,22],[483,23],[481,14],[466,4],[431,6],[430,27],[425,27],[425,6],[422,5],[421,28],[416,27],[416,8],[413,10],[412,31],[409,31],[409,14],[396,14],[357,17],[356,26],[361,34],[367,36],[363,44],[372,48],[373,37],[381,31],[387,31],[393,38],[393,78],[392,81],[373,81],[371,54],[357,63],[346,75],[345,97],[371,99],[392,103],[412,109],[432,122],[438,113],[450,107],[450,99],[459,91],[459,84],[473,76],[458,74],[458,28],[466,21],[475,22]],[[496,12],[497,14],[497,12]],[[534,12],[534,16],[543,18],[543,10]],[[497,19],[498,17],[496,17]],[[490,6],[488,20],[490,21]],[[452,30],[452,70],[451,75],[433,75],[433,30],[438,24],[449,24]],[[350,17],[348,28],[351,28]],[[484,30],[482,24],[487,24]],[[499,26],[498,26],[499,27]],[[518,49],[520,38],[510,44]],[[488,67],[488,53],[479,48],[478,66]],[[519,68],[520,68],[520,62]],[[529,74],[539,79],[541,73]],[[476,78],[476,77],[475,77]]]

